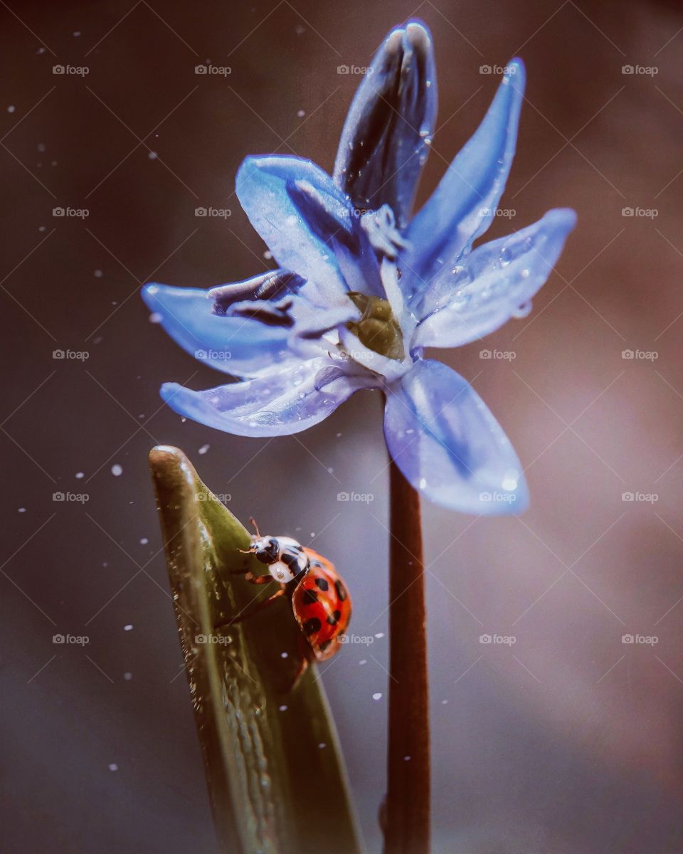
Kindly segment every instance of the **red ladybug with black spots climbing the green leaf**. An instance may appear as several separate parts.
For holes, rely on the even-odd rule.
[[[328,559],[292,537],[262,536],[254,519],[251,524],[256,534],[251,538],[251,546],[241,551],[254,554],[260,563],[266,564],[269,574],[254,576],[246,572],[244,577],[252,584],[275,581],[280,588],[230,623],[242,622],[281,596],[288,596],[301,629],[301,666],[295,676],[296,682],[309,662],[326,661],[342,646],[351,619],[351,598]]]

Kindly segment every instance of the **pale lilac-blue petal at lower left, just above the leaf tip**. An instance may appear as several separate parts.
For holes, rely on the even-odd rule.
[[[236,436],[287,436],[307,430],[377,378],[328,357],[278,368],[243,383],[192,391],[164,383],[161,397],[176,412]]]

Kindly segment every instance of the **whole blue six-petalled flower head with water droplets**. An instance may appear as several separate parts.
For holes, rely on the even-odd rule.
[[[458,347],[524,316],[575,213],[557,209],[472,248],[493,221],[517,141],[513,60],[481,126],[429,201],[412,200],[435,127],[429,32],[390,32],[347,116],[330,176],[293,156],[248,157],[236,193],[277,270],[212,290],[149,284],[144,299],[186,350],[240,382],[161,388],[176,412],[239,436],[327,418],[359,389],[386,395],[388,451],[429,500],[521,512],[522,465],[476,391],[426,347]]]

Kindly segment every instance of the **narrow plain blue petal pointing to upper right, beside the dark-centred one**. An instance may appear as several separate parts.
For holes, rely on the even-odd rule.
[[[524,93],[524,65],[513,59],[482,124],[412,219],[404,286],[421,290],[444,265],[454,265],[491,225],[515,155]]]

